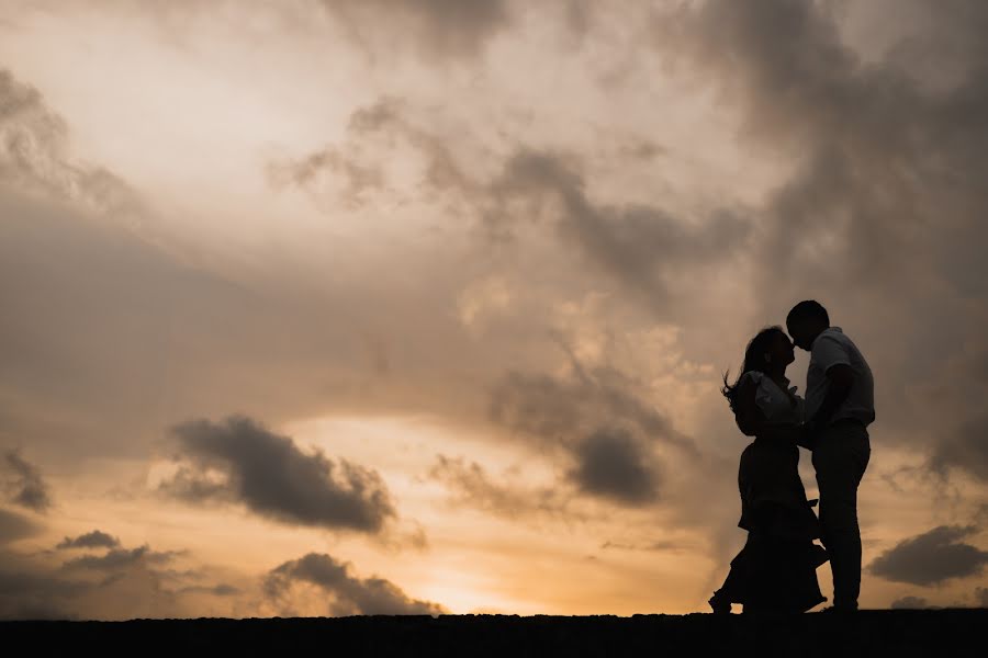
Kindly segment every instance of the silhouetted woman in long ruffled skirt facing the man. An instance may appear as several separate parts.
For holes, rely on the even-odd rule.
[[[740,527],[748,542],[731,560],[723,585],[710,598],[715,613],[729,613],[731,603],[744,612],[806,612],[826,601],[817,567],[827,561],[817,515],[799,477],[804,400],[789,387],[786,366],[793,343],[779,327],[763,329],[744,352],[738,381],[723,378],[738,428],[754,441],[741,453],[738,487]]]

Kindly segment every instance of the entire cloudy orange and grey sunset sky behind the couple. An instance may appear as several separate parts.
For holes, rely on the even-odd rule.
[[[875,375],[862,606],[988,606],[986,31],[8,0],[0,617],[707,611],[721,376],[807,298]]]

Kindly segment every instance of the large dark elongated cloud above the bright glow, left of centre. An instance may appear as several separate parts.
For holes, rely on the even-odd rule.
[[[396,515],[377,472],[318,450],[306,454],[290,438],[249,418],[183,422],[172,434],[186,463],[161,484],[168,495],[191,502],[240,502],[284,523],[338,530],[377,532]]]

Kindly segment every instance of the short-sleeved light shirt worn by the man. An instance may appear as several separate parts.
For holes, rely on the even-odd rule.
[[[816,416],[820,405],[823,404],[830,388],[827,371],[842,363],[851,366],[854,383],[851,385],[847,399],[827,422],[854,418],[867,426],[875,420],[875,383],[872,378],[872,368],[868,367],[868,362],[862,356],[857,345],[844,336],[840,327],[824,329],[810,345],[810,364],[806,373],[806,417]]]

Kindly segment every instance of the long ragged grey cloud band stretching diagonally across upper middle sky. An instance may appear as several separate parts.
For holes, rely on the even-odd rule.
[[[346,134],[340,146],[269,163],[269,179],[276,186],[291,182],[322,195],[321,181],[328,173],[343,181],[330,185],[330,195],[355,207],[369,202],[371,193],[395,192],[386,163],[396,149],[411,149],[412,159],[423,161],[420,180],[409,191],[415,201],[438,196],[457,215],[469,213],[495,246],[512,240],[518,226],[548,223],[564,247],[621,284],[656,317],[672,317],[677,305],[695,297],[712,266],[743,253],[752,235],[751,219],[728,205],[686,218],[654,204],[596,202],[582,172],[583,158],[575,154],[527,146],[509,147],[506,155],[481,149],[470,158],[496,166],[473,171],[449,137],[428,127],[411,102],[394,97],[356,110]],[[378,138],[385,144],[375,148]],[[457,145],[463,141],[458,137]]]

